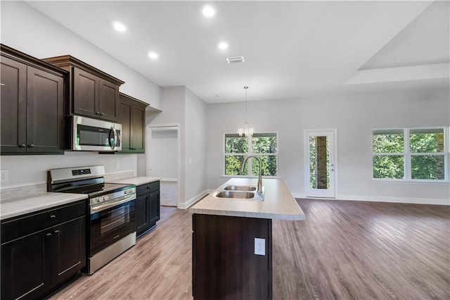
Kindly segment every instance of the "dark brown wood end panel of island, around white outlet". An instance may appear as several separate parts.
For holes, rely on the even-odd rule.
[[[272,299],[272,220],[194,213],[192,268],[194,299]]]

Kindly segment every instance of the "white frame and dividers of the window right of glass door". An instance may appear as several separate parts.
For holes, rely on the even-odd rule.
[[[373,134],[376,131],[399,130],[404,137],[404,152],[403,153],[375,153],[373,152]],[[444,132],[444,152],[413,152],[410,146],[411,131],[414,130],[443,130]],[[432,126],[432,127],[396,127],[396,128],[373,128],[371,131],[371,145],[372,145],[372,180],[376,182],[412,182],[412,183],[448,183],[449,180],[449,159],[450,159],[450,127],[446,126]],[[375,156],[403,156],[404,157],[404,177],[403,178],[375,178],[373,177],[373,158]],[[413,156],[444,156],[444,179],[413,179],[411,170],[411,158]]]

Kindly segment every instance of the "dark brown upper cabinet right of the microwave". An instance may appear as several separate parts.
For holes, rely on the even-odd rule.
[[[120,153],[146,152],[146,104],[120,93],[119,123],[122,124],[122,151]]]

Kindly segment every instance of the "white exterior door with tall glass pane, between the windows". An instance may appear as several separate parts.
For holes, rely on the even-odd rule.
[[[335,198],[336,130],[305,130],[305,194]]]

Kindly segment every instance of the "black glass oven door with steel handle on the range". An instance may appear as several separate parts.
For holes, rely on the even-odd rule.
[[[90,208],[89,257],[136,232],[135,205],[136,194],[133,194],[115,203]]]

